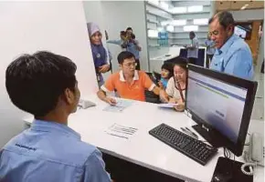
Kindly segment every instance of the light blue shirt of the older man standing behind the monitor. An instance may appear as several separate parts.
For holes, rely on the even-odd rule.
[[[229,75],[253,78],[253,64],[249,45],[238,35],[232,35],[213,56],[211,69]]]

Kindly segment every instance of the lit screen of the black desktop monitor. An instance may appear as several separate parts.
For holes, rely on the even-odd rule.
[[[238,132],[247,90],[189,70],[186,106],[232,142]]]

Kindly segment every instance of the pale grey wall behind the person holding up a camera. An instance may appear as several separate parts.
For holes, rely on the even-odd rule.
[[[110,39],[119,39],[120,31],[131,26],[136,39],[140,41],[142,51],[140,54],[141,69],[148,70],[147,33],[143,1],[102,1],[106,30]],[[108,44],[109,45],[109,44]],[[113,68],[118,69],[117,56],[121,52],[118,45],[109,45],[113,56]]]

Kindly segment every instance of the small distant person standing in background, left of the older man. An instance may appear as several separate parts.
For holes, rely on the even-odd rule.
[[[185,45],[185,48],[187,49],[187,59],[189,64],[196,65],[196,60],[198,58],[198,40],[196,38],[196,35],[193,31],[189,33],[189,38],[191,40],[190,45]]]

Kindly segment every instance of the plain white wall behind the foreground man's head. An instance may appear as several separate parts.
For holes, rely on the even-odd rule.
[[[86,20],[81,2],[0,2],[0,147],[23,129],[28,116],[5,91],[5,69],[16,56],[48,50],[78,66],[81,96],[97,90]]]

